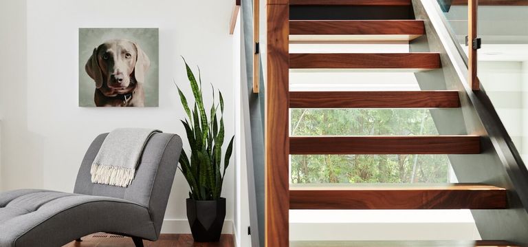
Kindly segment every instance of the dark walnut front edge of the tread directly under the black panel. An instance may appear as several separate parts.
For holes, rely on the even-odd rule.
[[[289,21],[289,34],[418,34],[425,32],[423,21]]]

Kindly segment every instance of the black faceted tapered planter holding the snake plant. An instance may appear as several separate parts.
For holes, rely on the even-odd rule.
[[[225,198],[211,201],[187,198],[187,219],[196,242],[219,241],[225,219]]]

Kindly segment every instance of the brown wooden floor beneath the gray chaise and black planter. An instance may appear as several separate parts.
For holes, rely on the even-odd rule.
[[[63,247],[134,247],[130,237],[98,233],[82,238],[83,241],[72,241]],[[223,234],[218,243],[195,243],[190,234],[162,234],[159,239],[143,241],[145,247],[233,247],[233,235]]]

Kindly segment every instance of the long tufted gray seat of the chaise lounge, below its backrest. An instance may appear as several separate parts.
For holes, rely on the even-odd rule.
[[[135,202],[43,190],[0,193],[0,247],[62,246],[98,231],[157,238],[148,210]]]

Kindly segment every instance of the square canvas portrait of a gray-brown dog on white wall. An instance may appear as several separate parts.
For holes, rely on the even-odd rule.
[[[80,107],[157,107],[157,28],[79,29]]]

